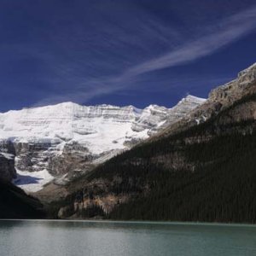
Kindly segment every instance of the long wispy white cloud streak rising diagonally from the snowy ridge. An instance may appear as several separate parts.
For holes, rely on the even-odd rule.
[[[152,25],[148,26],[148,24],[144,24],[143,26],[143,31],[145,31],[145,27],[148,27],[151,34],[154,33],[155,27],[158,27],[158,30],[160,31],[160,24],[154,24],[155,27]],[[61,95],[49,96],[48,98],[38,102],[37,105],[64,101],[88,102],[90,99],[95,98],[96,96],[104,96],[120,90],[125,90],[131,86],[132,82],[134,82],[133,84],[136,84],[139,75],[143,73],[154,72],[166,67],[184,65],[189,62],[196,61],[204,56],[212,55],[218,51],[218,49],[222,49],[228,44],[236,42],[236,40],[242,38],[248,33],[253,32],[255,28],[256,6],[241,11],[241,13],[236,15],[227,17],[224,20],[218,20],[218,25],[202,26],[202,31],[200,35],[198,35],[198,38],[196,38],[196,34],[192,35],[191,38],[194,39],[190,40],[188,40],[188,38],[179,38],[183,39],[179,46],[175,47],[171,51],[167,51],[163,55],[154,57],[148,61],[143,61],[142,63],[136,63],[133,66],[131,60],[127,60],[127,62],[130,64],[130,67],[127,67],[126,65],[125,69],[117,75],[112,74],[108,77],[89,79],[84,79],[81,77],[76,78],[73,80],[71,90],[67,90]],[[174,31],[172,31],[172,35],[175,35],[177,38],[179,37],[177,34],[175,34]],[[168,37],[164,37],[163,33],[159,32],[159,38],[166,44]],[[132,44],[134,47],[137,47],[138,45],[140,48],[143,47],[143,44],[139,42],[136,43],[137,38],[129,38],[129,36],[126,36],[125,38],[125,32],[123,32],[121,37],[119,37],[119,41],[113,42],[113,45],[110,44],[111,37],[105,38],[104,44],[106,44],[106,47],[111,46],[116,48],[120,47],[120,44],[129,44],[127,42],[130,42],[130,44]],[[132,47],[132,45],[130,45],[130,47]],[[98,52],[97,54],[99,55],[101,53]],[[124,56],[124,58],[127,58],[127,56]],[[82,58],[81,61],[83,63],[84,58]],[[93,65],[98,63],[98,61],[100,60],[96,60]],[[118,65],[118,63],[110,63],[108,61],[105,62],[104,65],[106,67],[113,67],[113,70],[115,66]],[[80,64],[81,63],[79,63],[78,66],[80,66]],[[61,70],[63,70],[63,68],[61,68]],[[67,70],[64,73],[66,73]],[[71,73],[73,73],[73,69],[71,69]]]

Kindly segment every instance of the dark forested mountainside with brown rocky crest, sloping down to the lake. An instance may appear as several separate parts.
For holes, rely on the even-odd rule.
[[[55,216],[256,223],[255,119],[254,64],[183,119],[67,184]]]

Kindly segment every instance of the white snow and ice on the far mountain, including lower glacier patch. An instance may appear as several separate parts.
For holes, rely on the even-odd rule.
[[[34,170],[38,172],[18,171],[15,179],[15,184],[20,188],[34,192],[53,179],[46,171],[48,162],[44,161],[42,164],[41,160],[52,155],[61,155],[65,146],[72,147],[73,143],[79,143],[88,149],[85,150],[86,154],[94,156],[95,164],[102,163],[131,147],[132,143],[129,142],[147,139],[166,125],[183,118],[204,101],[195,96],[186,96],[173,108],[154,104],[144,109],[105,104],[81,106],[73,102],[63,102],[51,106],[11,110],[0,113],[0,141],[49,144],[45,152],[33,156],[33,165],[36,162]],[[73,154],[76,154],[76,150]],[[98,159],[95,159],[96,155]],[[13,156],[5,154],[5,157]],[[15,163],[20,159],[17,154]]]

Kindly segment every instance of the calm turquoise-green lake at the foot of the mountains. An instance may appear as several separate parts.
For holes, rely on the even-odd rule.
[[[0,220],[0,255],[256,255],[256,226]]]

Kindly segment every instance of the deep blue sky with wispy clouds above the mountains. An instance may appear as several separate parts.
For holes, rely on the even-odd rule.
[[[0,112],[207,97],[256,62],[254,0],[1,0]]]

